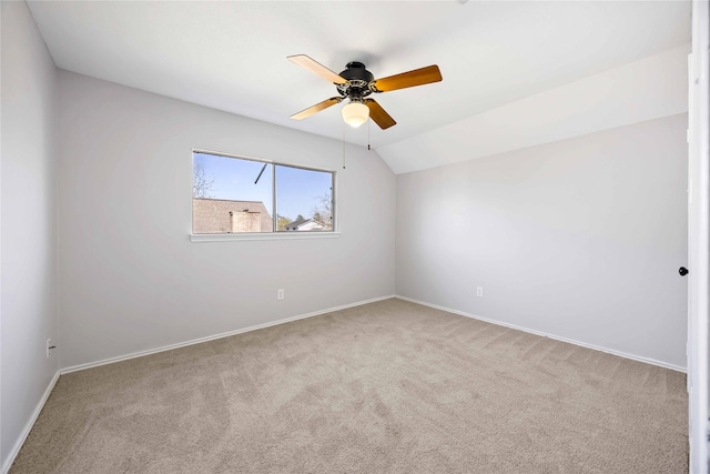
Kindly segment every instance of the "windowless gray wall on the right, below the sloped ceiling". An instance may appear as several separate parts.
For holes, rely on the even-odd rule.
[[[684,367],[686,128],[397,175],[397,294]]]

